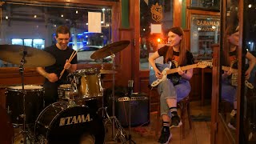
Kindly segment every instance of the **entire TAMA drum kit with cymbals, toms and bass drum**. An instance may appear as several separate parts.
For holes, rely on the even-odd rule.
[[[130,41],[114,42],[97,50],[90,58],[101,59],[110,56],[112,70],[87,68],[76,70],[67,76],[70,84],[58,86],[58,102],[44,107],[42,86],[24,84],[24,67],[44,67],[55,63],[55,58],[43,51],[29,46],[0,45],[0,59],[19,65],[22,78],[21,86],[6,87],[6,113],[13,126],[22,126],[14,139],[22,134],[23,142],[30,143],[79,143],[79,138],[94,139],[95,143],[104,143],[106,124],[112,125],[112,138],[126,142],[126,132],[114,116],[114,54],[125,49]],[[42,61],[43,59],[43,61]],[[112,115],[106,108],[98,108],[98,98],[103,96],[101,74],[112,74]],[[102,112],[102,115],[99,115]],[[103,119],[103,120],[102,120]],[[33,132],[29,131],[30,127]],[[117,133],[114,132],[118,129]]]

